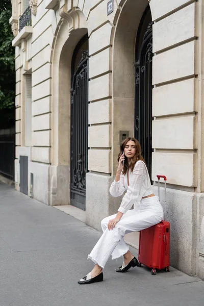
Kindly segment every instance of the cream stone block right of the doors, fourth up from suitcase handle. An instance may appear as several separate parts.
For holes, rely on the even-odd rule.
[[[195,41],[191,41],[154,56],[152,84],[156,85],[196,74],[195,44]]]

